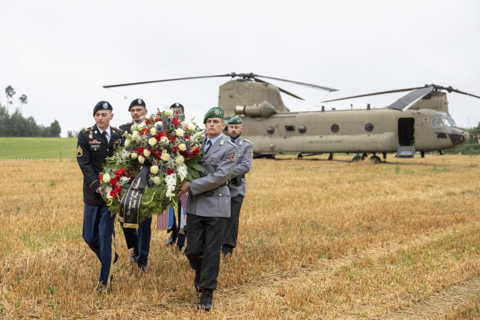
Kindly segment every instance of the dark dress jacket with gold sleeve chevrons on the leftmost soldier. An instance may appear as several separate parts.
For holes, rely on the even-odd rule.
[[[105,158],[111,156],[121,145],[122,134],[122,130],[110,126],[111,136],[107,143],[96,124],[78,133],[76,160],[83,173],[83,202],[92,205],[105,204],[100,193],[96,192],[100,186],[98,173],[102,171]]]

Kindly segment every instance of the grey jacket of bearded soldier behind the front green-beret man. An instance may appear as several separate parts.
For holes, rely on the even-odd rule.
[[[231,197],[237,195],[245,196],[245,173],[250,171],[251,160],[253,159],[253,142],[240,136],[236,139],[235,144],[238,146],[238,163],[230,176],[230,181],[228,181]]]

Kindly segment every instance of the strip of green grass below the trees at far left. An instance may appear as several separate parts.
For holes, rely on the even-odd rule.
[[[76,138],[0,137],[0,158],[3,159],[73,159]]]

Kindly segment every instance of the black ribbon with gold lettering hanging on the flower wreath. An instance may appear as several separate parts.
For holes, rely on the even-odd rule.
[[[138,228],[140,199],[148,185],[149,174],[150,166],[145,165],[131,182],[128,191],[121,197],[118,219],[123,222],[124,228]]]

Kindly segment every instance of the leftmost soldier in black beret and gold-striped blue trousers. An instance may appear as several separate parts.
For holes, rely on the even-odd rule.
[[[103,201],[98,174],[105,158],[121,145],[123,131],[110,126],[112,107],[107,101],[93,108],[95,125],[78,133],[76,159],[83,173],[83,230],[82,237],[101,262],[97,289],[100,293],[111,290],[113,263],[116,261],[115,217],[111,216]]]

